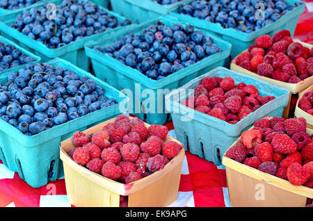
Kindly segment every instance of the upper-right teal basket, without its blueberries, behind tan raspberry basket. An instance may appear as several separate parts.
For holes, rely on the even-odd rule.
[[[187,3],[190,3],[188,1]],[[299,2],[297,0],[286,0],[287,5],[291,3]],[[260,28],[257,31],[253,31],[252,33],[245,33],[242,31],[237,31],[234,28],[223,28],[219,23],[206,22],[204,19],[199,19],[197,17],[191,17],[184,14],[178,13],[178,7],[172,10],[170,13],[171,16],[177,17],[179,21],[186,22],[188,24],[192,24],[198,28],[207,30],[211,33],[214,33],[219,38],[230,42],[232,44],[232,51],[230,53],[231,59],[235,58],[251,44],[254,44],[255,39],[261,35],[271,35],[273,36],[276,32],[287,29],[291,33],[291,37],[294,36],[294,31],[296,29],[296,25],[298,22],[299,15],[303,13],[305,10],[305,4],[303,2],[302,5],[294,8],[294,10],[289,11],[276,22],[268,24],[264,26],[264,28]]]

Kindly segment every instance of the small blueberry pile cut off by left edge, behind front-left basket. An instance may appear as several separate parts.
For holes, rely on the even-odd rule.
[[[14,45],[4,44],[0,40],[0,72],[3,72],[10,67],[30,63],[34,60],[35,58],[22,54],[22,51],[17,49]]]

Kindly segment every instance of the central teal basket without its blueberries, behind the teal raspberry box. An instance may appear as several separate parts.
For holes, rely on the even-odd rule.
[[[124,65],[115,58],[93,49],[96,45],[105,47],[114,40],[122,38],[127,33],[138,34],[156,21],[161,21],[168,26],[172,26],[178,22],[176,19],[159,17],[159,19],[140,24],[131,30],[122,30],[115,33],[115,35],[106,35],[98,41],[88,42],[85,45],[86,54],[91,58],[95,76],[118,90],[130,90],[133,97],[131,104],[129,104],[129,107],[132,109],[132,111],[131,109],[129,110],[130,113],[137,115],[148,124],[166,123],[169,115],[165,110],[164,96],[170,90],[179,88],[191,81],[191,79],[214,69],[214,67],[223,66],[225,59],[230,56],[231,49],[230,43],[212,36],[214,43],[223,51],[203,58],[199,62],[180,69],[178,72],[170,74],[159,81],[149,79],[145,74],[138,72],[137,69]],[[203,31],[203,33],[204,35],[209,35],[206,31]],[[154,100],[150,100],[151,102],[147,101],[150,96],[155,98]]]

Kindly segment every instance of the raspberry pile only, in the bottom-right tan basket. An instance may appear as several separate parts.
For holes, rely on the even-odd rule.
[[[306,120],[264,117],[244,131],[225,156],[296,186],[313,188],[313,136]]]

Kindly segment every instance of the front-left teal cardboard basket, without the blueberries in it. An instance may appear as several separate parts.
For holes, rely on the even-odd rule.
[[[70,138],[75,131],[84,131],[120,115],[120,105],[125,106],[128,101],[125,95],[120,95],[120,92],[111,85],[66,60],[55,58],[47,63],[54,67],[70,69],[79,76],[88,76],[96,85],[104,88],[106,97],[117,99],[118,104],[54,126],[34,136],[26,136],[15,126],[0,119],[0,158],[9,170],[18,172],[19,177],[33,188],[45,186],[48,181],[55,181],[63,176],[63,163],[59,158],[62,140]],[[0,82],[6,83],[7,77],[8,74],[0,76]]]

